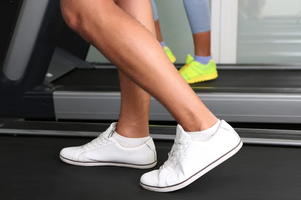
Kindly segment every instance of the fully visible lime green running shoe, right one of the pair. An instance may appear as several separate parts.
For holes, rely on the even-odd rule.
[[[202,64],[194,60],[190,54],[187,55],[186,64],[179,70],[188,83],[203,82],[217,78],[216,64],[211,59],[208,64]]]

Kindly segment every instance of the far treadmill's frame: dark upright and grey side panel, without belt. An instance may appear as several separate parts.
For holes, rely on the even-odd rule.
[[[44,7],[37,7],[37,3],[27,6],[27,13],[35,9],[42,15],[37,17],[33,14],[30,15],[31,18],[24,19],[24,9],[28,3],[35,2],[24,0],[17,26],[20,21],[26,24],[35,22],[38,24],[38,32],[35,33],[37,38],[32,47],[22,46],[30,52],[29,62],[24,63],[23,66],[10,66],[17,69],[26,67],[22,78],[16,81],[9,80],[3,71],[4,65],[0,66],[2,69],[0,92],[4,94],[0,98],[2,117],[117,120],[120,108],[119,91],[97,91],[97,89],[93,91],[84,87],[73,87],[70,90],[70,87],[49,83],[75,68],[95,66],[82,59],[87,52],[86,49],[85,52],[80,53],[82,57],[79,58],[63,49],[55,48],[59,30],[64,24],[59,0],[46,0],[43,3],[47,3],[47,6]],[[32,21],[34,19],[36,21]],[[22,30],[17,27],[14,34],[18,32]],[[23,41],[27,40],[28,35],[23,34]],[[13,36],[10,48],[18,49],[18,43],[14,39]],[[7,59],[16,59],[17,56],[18,54]],[[45,78],[45,74],[51,71],[54,71],[51,73],[52,77]],[[226,93],[205,89],[197,94],[214,114],[230,122],[299,123],[301,121],[301,93]],[[157,100],[152,98],[151,101],[150,120],[174,120]]]

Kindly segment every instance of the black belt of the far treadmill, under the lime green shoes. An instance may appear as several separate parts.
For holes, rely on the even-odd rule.
[[[116,69],[76,69],[53,83],[69,86],[69,90],[90,87],[92,90],[120,91]],[[217,79],[191,86],[195,91],[295,93],[301,92],[301,70],[221,69]],[[61,89],[66,90],[66,87]]]

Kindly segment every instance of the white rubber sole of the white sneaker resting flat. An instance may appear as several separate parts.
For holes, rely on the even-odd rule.
[[[68,164],[78,165],[78,166],[123,166],[123,167],[130,167],[130,168],[147,169],[147,168],[153,168],[157,165],[157,160],[150,164],[136,165],[136,164],[126,164],[126,163],[117,163],[117,162],[78,162],[62,157],[61,155],[60,158],[63,162],[66,162]]]

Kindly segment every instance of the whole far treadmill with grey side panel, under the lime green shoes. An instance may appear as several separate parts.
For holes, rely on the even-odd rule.
[[[8,6],[16,6],[16,2]],[[66,26],[58,0],[25,0],[18,9],[19,17],[14,15],[12,21],[15,26],[7,28],[8,36],[2,38],[5,47],[0,91],[7,92],[1,99],[2,115],[55,120],[118,119],[120,87],[116,68],[88,63],[56,45],[60,29]],[[61,38],[64,39],[68,35]],[[301,121],[299,67],[224,65],[218,71],[216,80],[191,84],[216,116],[233,122]],[[154,98],[149,119],[174,121]]]

